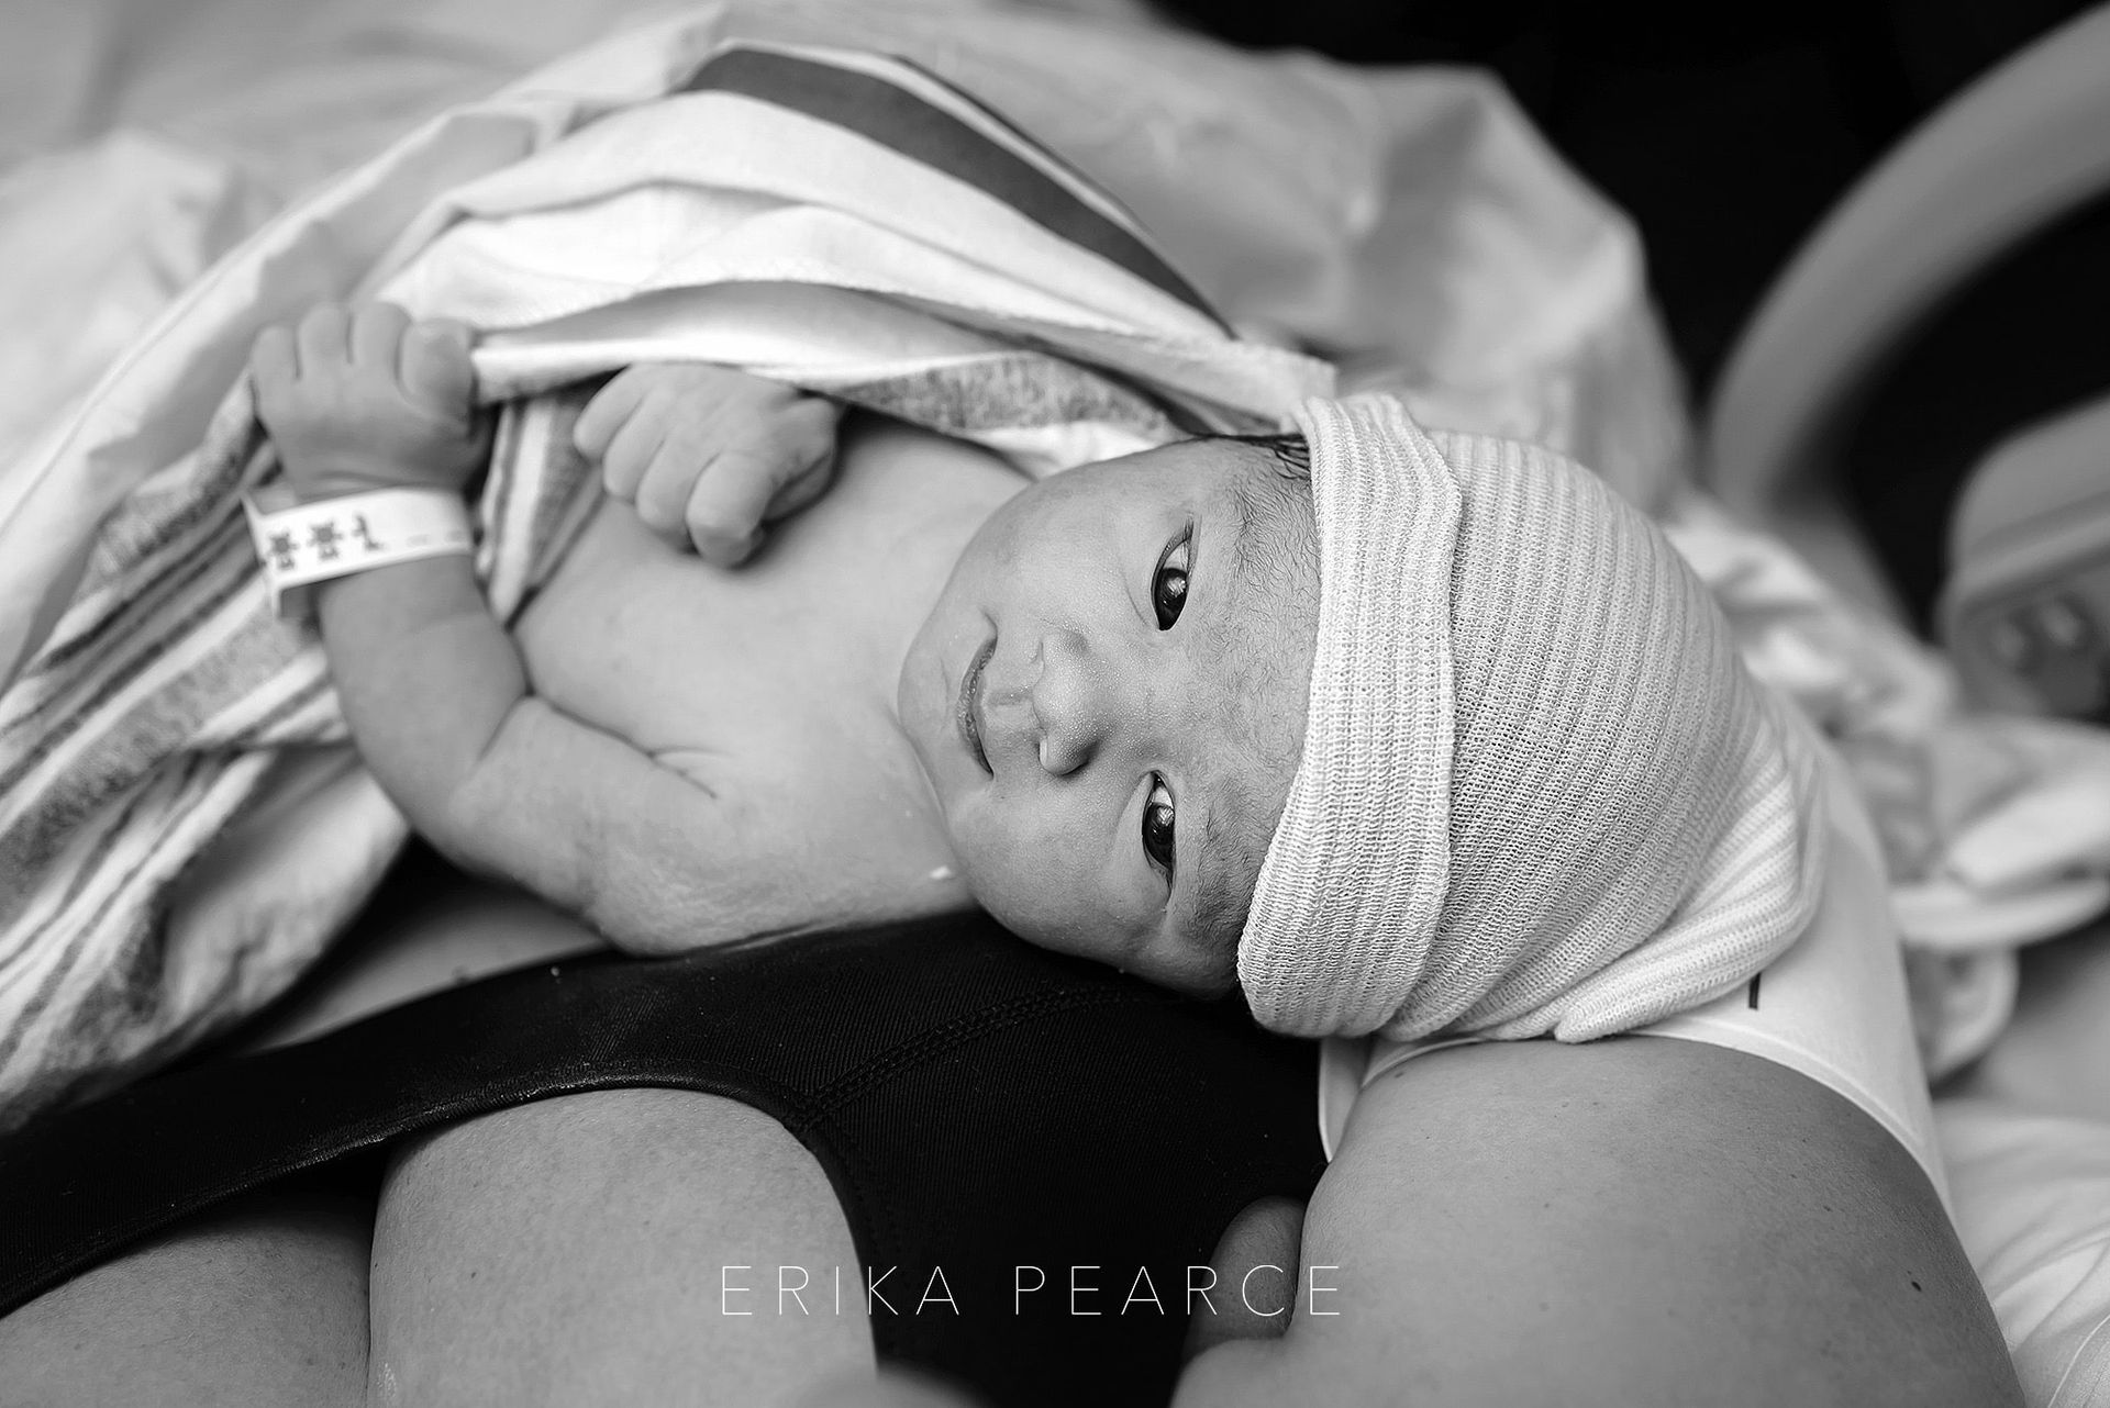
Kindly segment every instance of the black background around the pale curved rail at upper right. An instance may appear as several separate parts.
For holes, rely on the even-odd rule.
[[[1475,63],[1623,204],[1690,379],[1707,392],[1772,278],[1905,131],[2074,0],[1158,0],[1239,44],[1359,63]],[[2110,76],[2106,76],[2110,82]],[[1850,502],[1924,624],[1964,472],[2015,426],[2110,386],[2110,200],[1943,308],[1846,445]]]

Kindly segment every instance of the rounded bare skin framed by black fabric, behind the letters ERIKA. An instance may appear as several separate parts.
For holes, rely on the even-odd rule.
[[[380,1402],[760,1406],[874,1362],[821,1166],[768,1115],[682,1090],[542,1100],[409,1147],[371,1284]]]

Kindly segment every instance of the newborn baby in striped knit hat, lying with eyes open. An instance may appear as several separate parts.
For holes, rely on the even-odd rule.
[[[304,500],[485,464],[458,327],[321,308],[251,377]],[[325,582],[411,824],[637,953],[981,904],[1302,1035],[1604,1035],[1808,919],[1812,742],[1582,470],[1382,398],[1034,485],[836,419],[637,367],[511,637],[462,554]]]

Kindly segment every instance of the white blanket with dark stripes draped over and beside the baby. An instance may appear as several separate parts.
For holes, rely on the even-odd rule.
[[[483,329],[479,388],[504,411],[479,571],[500,618],[599,491],[572,449],[580,379],[633,360],[743,367],[1028,472],[1274,428],[1331,386],[1241,341],[1091,177],[863,51],[720,44],[452,185],[367,282]],[[110,516],[0,696],[8,1119],[257,1005],[403,841],[312,628],[266,605],[238,497],[274,476],[236,388],[203,449]]]

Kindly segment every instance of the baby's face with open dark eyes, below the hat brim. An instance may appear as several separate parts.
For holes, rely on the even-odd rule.
[[[1317,580],[1308,487],[1258,445],[1009,500],[897,700],[975,898],[1047,949],[1226,991],[1302,748]]]

